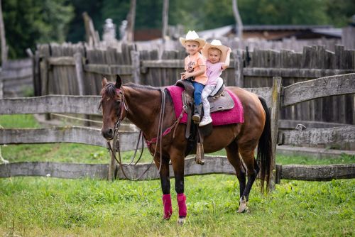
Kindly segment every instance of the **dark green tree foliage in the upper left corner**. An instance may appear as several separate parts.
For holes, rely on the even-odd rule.
[[[63,42],[72,6],[67,0],[6,0],[2,2],[9,58],[25,57],[36,43]]]

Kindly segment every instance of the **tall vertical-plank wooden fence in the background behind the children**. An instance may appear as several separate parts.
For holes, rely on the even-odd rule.
[[[183,71],[185,52],[136,50],[136,45],[121,44],[121,49],[88,49],[85,45],[39,45],[35,53],[36,96],[46,94],[97,95],[102,74],[113,80],[155,87],[175,84]],[[159,59],[160,58],[160,59]],[[246,88],[271,87],[273,77],[283,77],[283,86],[317,77],[355,72],[355,51],[334,46],[306,46],[302,53],[290,50],[234,50],[231,66],[223,72],[226,85]],[[355,123],[354,97],[342,95],[305,101],[280,111],[280,119],[327,123]],[[294,128],[294,123],[290,127]]]

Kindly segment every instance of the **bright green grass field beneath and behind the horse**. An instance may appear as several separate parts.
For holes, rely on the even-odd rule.
[[[0,116],[1,126],[14,124],[39,127],[32,116]],[[1,154],[11,162],[109,162],[105,148],[78,144],[7,145],[1,146]],[[130,155],[125,153],[125,159]],[[145,161],[150,159],[145,155]],[[354,160],[349,155],[277,158],[280,164],[306,165]],[[0,179],[0,236],[354,236],[355,180],[281,180],[268,196],[255,186],[250,213],[237,214],[239,183],[234,175],[186,177],[184,226],[177,224],[174,182],[174,213],[163,221],[158,180]]]

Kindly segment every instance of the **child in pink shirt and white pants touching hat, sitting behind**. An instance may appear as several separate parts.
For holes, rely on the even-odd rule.
[[[201,99],[203,105],[204,116],[199,126],[205,126],[212,123],[212,118],[209,114],[209,94],[215,94],[214,89],[223,79],[220,77],[223,70],[229,67],[231,49],[222,45],[219,40],[212,40],[211,43],[204,45],[202,55],[207,58],[207,84],[202,90]]]

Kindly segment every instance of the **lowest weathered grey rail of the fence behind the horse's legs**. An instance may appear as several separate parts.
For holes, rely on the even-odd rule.
[[[196,165],[195,158],[185,160],[185,176],[229,174],[235,175],[234,168],[226,157],[205,157],[204,166]],[[126,167],[127,177],[138,177],[150,163],[138,163],[135,167]],[[277,165],[278,179],[329,181],[333,179],[355,178],[355,164],[351,165]],[[16,162],[0,165],[0,177],[15,176],[44,176],[77,179],[91,177],[107,179],[108,164],[67,164],[58,162]],[[170,177],[174,177],[173,169],[170,169]],[[117,178],[126,179],[121,169],[117,169]],[[157,170],[151,168],[141,177],[141,180],[156,180],[159,178]],[[280,180],[277,180],[279,183]]]

